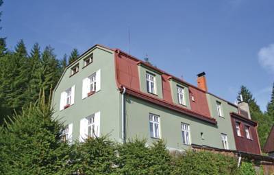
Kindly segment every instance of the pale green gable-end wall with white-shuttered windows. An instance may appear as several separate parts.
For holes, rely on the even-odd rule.
[[[83,59],[93,53],[93,62],[84,67]],[[79,72],[71,75],[71,67],[79,62]],[[60,119],[64,124],[73,123],[73,140],[79,140],[80,120],[98,111],[100,116],[100,133],[110,135],[110,139],[120,141],[121,133],[121,95],[116,87],[114,53],[96,47],[82,56],[75,64],[68,67],[53,94],[53,117]],[[82,80],[101,69],[101,90],[82,99]],[[60,94],[75,85],[75,104],[64,110],[59,110]]]

